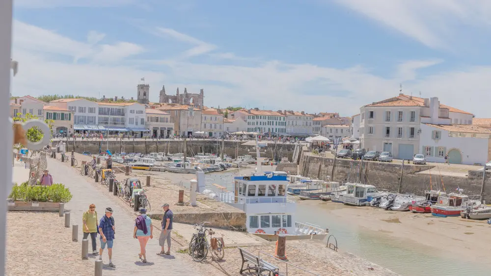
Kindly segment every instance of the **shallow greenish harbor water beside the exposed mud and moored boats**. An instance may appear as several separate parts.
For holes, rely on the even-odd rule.
[[[268,168],[264,170],[267,171]],[[243,176],[250,171],[208,174],[206,175],[206,188],[218,192],[217,187],[212,185],[216,183],[228,191],[233,191],[233,177]],[[356,207],[324,201],[298,199],[296,201],[297,221],[328,228],[329,233],[337,239],[341,251],[353,253],[402,276],[489,276],[491,274],[491,266],[474,261],[477,258],[476,255],[449,256],[433,247],[409,239],[401,240],[390,237],[383,231],[368,230],[363,226],[342,222],[331,212],[337,208]],[[487,258],[487,256],[481,257]]]

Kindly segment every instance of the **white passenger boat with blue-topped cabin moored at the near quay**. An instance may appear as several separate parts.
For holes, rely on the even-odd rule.
[[[267,240],[275,240],[278,234],[287,239],[324,239],[327,229],[295,222],[296,203],[286,194],[288,176],[284,172],[263,172],[257,138],[256,145],[256,171],[234,177],[233,191],[218,192],[216,199],[244,210],[247,232]]]

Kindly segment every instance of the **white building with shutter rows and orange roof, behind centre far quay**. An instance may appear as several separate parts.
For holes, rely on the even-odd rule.
[[[271,133],[282,135],[286,133],[286,116],[271,110],[241,109],[234,112],[235,118],[247,122],[247,132]]]

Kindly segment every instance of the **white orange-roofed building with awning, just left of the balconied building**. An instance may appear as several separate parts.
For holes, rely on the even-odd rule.
[[[58,99],[50,101],[50,105],[64,110],[73,111],[73,124],[75,132],[85,133],[87,131],[103,131],[105,127],[99,127],[98,108],[99,104],[85,99]]]

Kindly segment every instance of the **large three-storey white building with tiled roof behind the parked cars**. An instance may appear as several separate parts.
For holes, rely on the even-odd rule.
[[[404,94],[367,104],[360,108],[361,147],[371,151],[390,151],[395,158],[412,159],[420,148],[420,124],[427,118],[436,124],[453,120],[472,124],[473,115],[440,104],[437,98],[422,99]],[[426,118],[426,119],[425,119]]]

